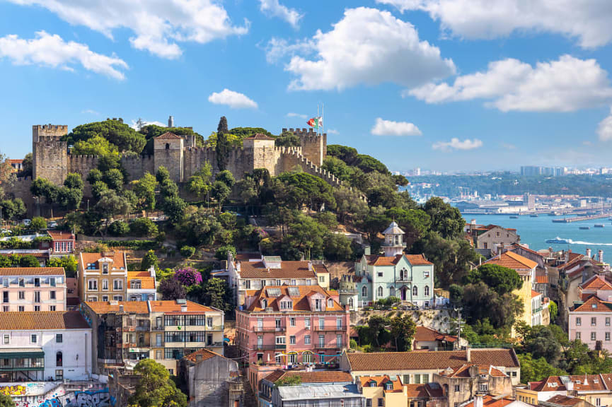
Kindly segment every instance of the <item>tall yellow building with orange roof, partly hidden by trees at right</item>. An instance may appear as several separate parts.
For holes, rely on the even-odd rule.
[[[522,321],[528,326],[532,326],[532,309],[531,309],[531,291],[533,290],[533,282],[536,278],[536,267],[538,264],[530,259],[527,259],[520,254],[514,252],[504,252],[485,261],[483,264],[497,264],[508,269],[513,269],[519,274],[523,285],[519,290],[514,290],[512,293],[519,297],[523,304],[523,314],[517,321]],[[512,336],[516,333],[512,330]]]

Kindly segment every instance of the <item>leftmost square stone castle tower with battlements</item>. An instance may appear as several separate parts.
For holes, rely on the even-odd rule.
[[[35,124],[32,126],[33,179],[43,177],[61,185],[68,175],[68,143],[62,136],[68,126]]]

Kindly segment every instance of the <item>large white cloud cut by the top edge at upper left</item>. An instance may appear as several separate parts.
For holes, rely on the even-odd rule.
[[[132,31],[132,47],[158,57],[177,58],[178,42],[204,44],[247,33],[249,23],[232,25],[226,10],[212,0],[9,0],[47,8],[73,25],[85,25],[112,38],[121,28]]]

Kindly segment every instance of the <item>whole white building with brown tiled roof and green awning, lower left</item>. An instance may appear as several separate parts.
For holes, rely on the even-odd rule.
[[[0,312],[0,382],[91,378],[91,334],[78,311]]]

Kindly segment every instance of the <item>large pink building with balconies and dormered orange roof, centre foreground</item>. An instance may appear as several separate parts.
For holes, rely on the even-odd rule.
[[[350,314],[338,294],[318,285],[247,290],[236,309],[236,343],[248,362],[337,362],[349,348]]]

